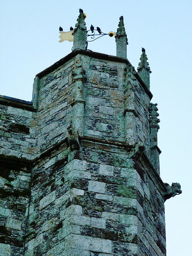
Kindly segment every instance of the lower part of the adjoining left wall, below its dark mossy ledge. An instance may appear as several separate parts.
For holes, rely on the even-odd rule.
[[[1,155],[0,176],[0,255],[23,255],[30,197],[30,163]]]

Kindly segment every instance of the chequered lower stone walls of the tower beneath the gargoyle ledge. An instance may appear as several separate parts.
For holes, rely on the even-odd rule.
[[[148,172],[123,148],[87,140],[40,160],[26,256],[165,255],[164,201]]]

